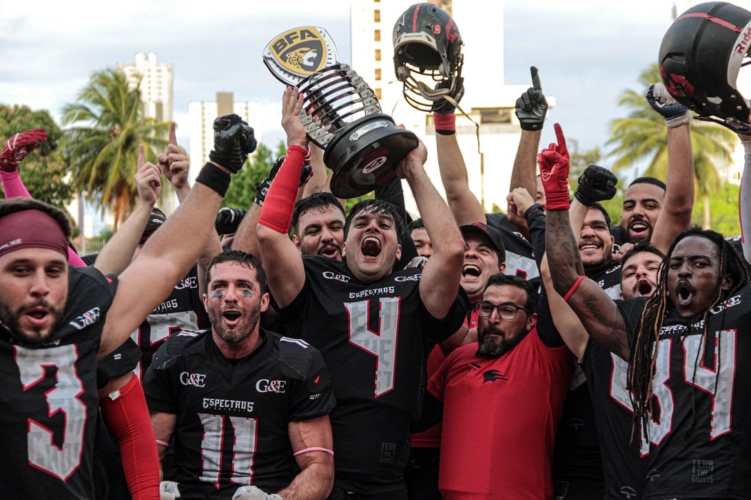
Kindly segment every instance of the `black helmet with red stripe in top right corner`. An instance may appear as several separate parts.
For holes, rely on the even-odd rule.
[[[749,47],[751,12],[726,2],[695,5],[662,38],[662,83],[697,119],[748,134],[749,100],[737,90],[737,77],[751,63]]]

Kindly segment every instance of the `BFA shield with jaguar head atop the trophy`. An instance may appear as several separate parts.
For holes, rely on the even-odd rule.
[[[336,64],[336,47],[328,32],[301,26],[277,35],[264,49],[264,64],[287,85],[296,86],[310,75]]]

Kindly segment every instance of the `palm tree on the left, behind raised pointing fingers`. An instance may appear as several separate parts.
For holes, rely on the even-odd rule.
[[[74,188],[103,215],[111,209],[117,229],[137,199],[138,147],[143,144],[147,158],[163,151],[169,123],[145,118],[140,89],[128,89],[125,75],[112,68],[95,73],[77,102],[65,105],[62,122],[74,125],[65,141]]]

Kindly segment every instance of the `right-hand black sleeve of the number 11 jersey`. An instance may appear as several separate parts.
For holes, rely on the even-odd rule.
[[[298,341],[300,342],[300,341]],[[304,378],[297,381],[291,401],[290,420],[310,420],[327,415],[336,406],[333,387],[324,358],[311,349],[310,363]]]

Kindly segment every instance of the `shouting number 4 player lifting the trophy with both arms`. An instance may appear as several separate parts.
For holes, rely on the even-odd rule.
[[[287,158],[258,223],[270,291],[288,334],[319,348],[331,371],[337,402],[330,416],[333,498],[406,498],[409,424],[418,412],[427,352],[459,330],[466,312],[459,289],[461,234],[424,171],[421,144],[397,174],[412,188],[435,242],[424,269],[392,273],[404,223],[391,203],[379,200],[359,203],[348,215],[344,262],[301,258],[287,234],[307,143],[301,106],[297,89],[286,89]]]

